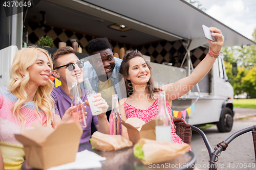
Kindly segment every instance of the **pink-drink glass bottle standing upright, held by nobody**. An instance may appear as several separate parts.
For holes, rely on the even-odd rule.
[[[112,95],[112,111],[110,114],[110,134],[122,135],[121,114],[118,108],[118,95]]]

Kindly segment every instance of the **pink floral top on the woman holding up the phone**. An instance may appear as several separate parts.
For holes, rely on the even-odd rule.
[[[172,117],[172,109],[170,108],[170,105],[167,100],[166,100],[166,107],[167,107],[167,111],[169,112],[170,120],[171,120],[170,126],[171,126],[172,133],[173,133],[172,140],[175,143],[186,144],[181,140],[181,138],[176,133],[174,133],[175,129],[174,129],[174,122],[173,122],[173,117]],[[127,118],[137,117],[137,118],[143,120],[145,123],[147,123],[148,121],[150,121],[157,115],[158,97],[155,100],[155,102],[150,107],[148,107],[146,110],[136,108],[136,107],[126,103],[124,100],[124,110],[125,110]],[[191,149],[189,149],[189,150],[191,150]]]

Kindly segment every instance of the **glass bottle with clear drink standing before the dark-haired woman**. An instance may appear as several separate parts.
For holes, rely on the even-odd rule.
[[[158,104],[159,109],[156,115],[156,140],[172,142],[171,120],[166,108],[165,91],[159,91]]]

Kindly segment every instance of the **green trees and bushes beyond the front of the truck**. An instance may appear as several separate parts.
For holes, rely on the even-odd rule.
[[[252,34],[256,41],[256,29]],[[256,45],[223,47],[227,77],[231,79],[234,95],[247,93],[256,98]],[[238,75],[232,75],[232,63],[238,64]]]

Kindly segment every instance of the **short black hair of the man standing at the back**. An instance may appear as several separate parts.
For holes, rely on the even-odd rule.
[[[99,52],[106,49],[111,49],[108,38],[95,38],[88,42],[88,53],[92,55],[93,52]]]

